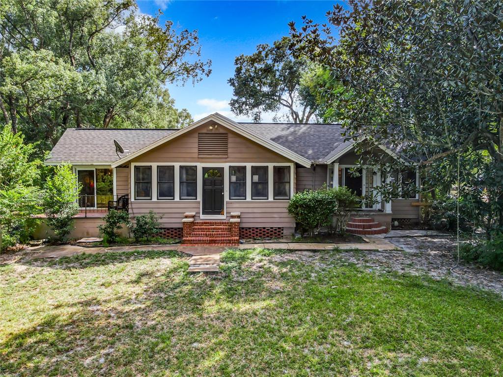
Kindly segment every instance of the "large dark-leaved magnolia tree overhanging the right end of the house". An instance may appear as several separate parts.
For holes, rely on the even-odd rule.
[[[370,161],[388,173],[421,157],[426,191],[459,195],[473,229],[493,237],[503,230],[503,2],[348,5],[333,6],[326,25],[290,24],[294,55],[329,73],[326,114],[338,104],[357,148],[397,152]],[[396,186],[379,190],[388,198]]]

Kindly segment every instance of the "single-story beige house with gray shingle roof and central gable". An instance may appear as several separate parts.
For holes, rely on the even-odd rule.
[[[182,129],[67,129],[45,163],[71,164],[81,185],[73,237],[97,236],[109,200],[124,196],[133,220],[153,210],[162,234],[181,238],[185,227],[190,243],[208,241],[204,226],[221,230],[227,243],[229,224],[232,242],[236,232],[288,237],[295,192],[326,183],[368,197],[381,184],[379,171],[354,175],[358,156],[342,132],[340,124],[237,123],[215,113]],[[419,184],[417,170],[408,178]],[[389,202],[377,197],[359,212],[388,230],[395,219],[417,221],[418,201],[415,193]]]

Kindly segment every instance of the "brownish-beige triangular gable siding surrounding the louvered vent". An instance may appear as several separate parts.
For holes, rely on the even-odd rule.
[[[228,134],[227,157],[199,157],[198,134],[210,132],[206,123],[186,134],[136,157],[132,162],[289,162],[258,143],[219,126],[217,133]],[[213,131],[214,132],[214,131]]]

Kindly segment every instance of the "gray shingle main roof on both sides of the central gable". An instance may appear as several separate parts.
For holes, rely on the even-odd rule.
[[[324,157],[344,141],[340,124],[240,123],[257,134],[311,161]],[[47,162],[113,162],[118,160],[114,140],[128,153],[136,152],[177,130],[69,128]],[[121,155],[121,157],[124,157]]]

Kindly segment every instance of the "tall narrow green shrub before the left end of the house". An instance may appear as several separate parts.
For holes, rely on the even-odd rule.
[[[78,192],[75,175],[70,165],[58,165],[44,186],[43,204],[47,225],[58,239],[63,239],[73,229],[73,216],[78,213]]]

